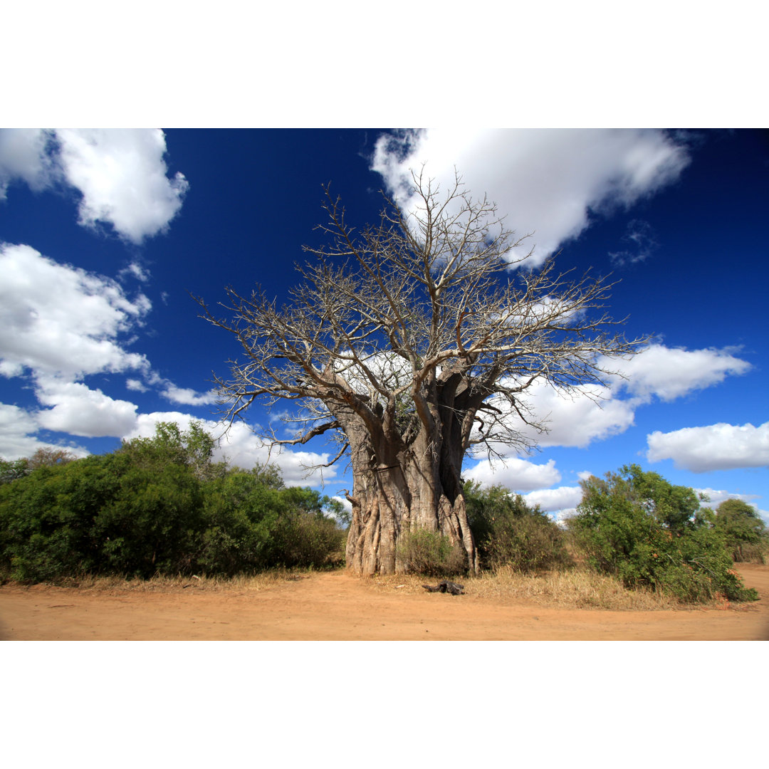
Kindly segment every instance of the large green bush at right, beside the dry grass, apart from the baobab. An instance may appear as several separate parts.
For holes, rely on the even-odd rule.
[[[638,465],[582,481],[582,501],[568,525],[588,564],[614,574],[628,588],[646,585],[680,601],[724,595],[753,601],[709,511],[699,511],[694,491],[672,487]],[[676,507],[676,505],[678,505]]]

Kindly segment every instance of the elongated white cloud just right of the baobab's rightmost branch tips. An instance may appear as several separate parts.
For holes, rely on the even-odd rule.
[[[628,377],[624,388],[644,401],[653,395],[663,401],[673,401],[691,391],[718,384],[727,375],[741,375],[752,368],[747,361],[735,357],[730,348],[686,350],[664,345],[649,345],[629,361],[613,365]],[[616,384],[623,386],[621,380]]]

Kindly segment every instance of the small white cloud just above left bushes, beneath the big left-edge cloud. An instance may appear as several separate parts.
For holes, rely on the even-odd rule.
[[[38,424],[46,430],[88,438],[119,437],[136,422],[135,404],[116,401],[80,382],[38,378],[36,394],[42,405],[52,407],[38,412]]]

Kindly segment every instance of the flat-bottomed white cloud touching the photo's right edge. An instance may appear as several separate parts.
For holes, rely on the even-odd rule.
[[[769,466],[769,422],[752,424],[710,424],[669,433],[647,435],[647,459],[672,459],[677,468],[695,473],[736,468]]]

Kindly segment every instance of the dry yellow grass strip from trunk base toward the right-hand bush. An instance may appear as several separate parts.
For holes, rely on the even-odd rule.
[[[371,584],[381,591],[424,593],[422,585],[434,584],[436,581],[414,574],[396,574],[374,577]],[[534,576],[503,567],[484,572],[479,577],[454,581],[464,584],[464,592],[468,596],[511,603],[534,603],[551,608],[614,611],[691,609],[670,596],[647,590],[628,590],[617,579],[582,569],[552,571]]]

